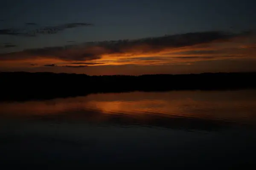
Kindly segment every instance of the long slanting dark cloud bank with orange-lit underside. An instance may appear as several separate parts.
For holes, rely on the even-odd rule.
[[[79,24],[65,25],[63,28],[74,26]],[[249,47],[238,47],[241,46],[242,39],[251,35],[251,32],[193,32],[137,40],[86,42],[79,45],[25,49],[0,54],[0,61],[32,61],[45,66],[76,68],[77,65],[163,65],[218,58],[241,58],[255,54],[251,50],[251,45],[250,50]],[[236,43],[233,43],[234,41]],[[49,61],[56,64],[48,64]]]

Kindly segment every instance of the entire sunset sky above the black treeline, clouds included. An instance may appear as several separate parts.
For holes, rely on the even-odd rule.
[[[256,71],[255,0],[8,0],[0,71]]]

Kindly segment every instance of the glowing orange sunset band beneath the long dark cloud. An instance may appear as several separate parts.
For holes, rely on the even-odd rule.
[[[239,35],[240,36],[240,35]],[[147,41],[145,41],[147,42]],[[108,47],[79,46],[70,49],[57,49],[48,55],[32,55],[29,51],[14,52],[0,56],[2,69],[43,69],[48,67],[70,67],[69,69],[84,69],[85,66],[163,66],[163,65],[191,65],[198,61],[222,61],[222,60],[255,60],[256,38],[253,35],[231,38],[228,41],[209,41],[192,46],[157,47],[151,45],[119,47],[119,52],[111,52]],[[43,49],[44,50],[44,49]],[[47,49],[45,49],[47,50]],[[55,49],[53,49],[55,50]],[[47,52],[47,51],[46,51]],[[48,52],[47,52],[48,53]],[[73,55],[90,53],[93,58],[80,59]],[[63,55],[62,55],[63,54]],[[88,55],[88,57],[90,57]]]

